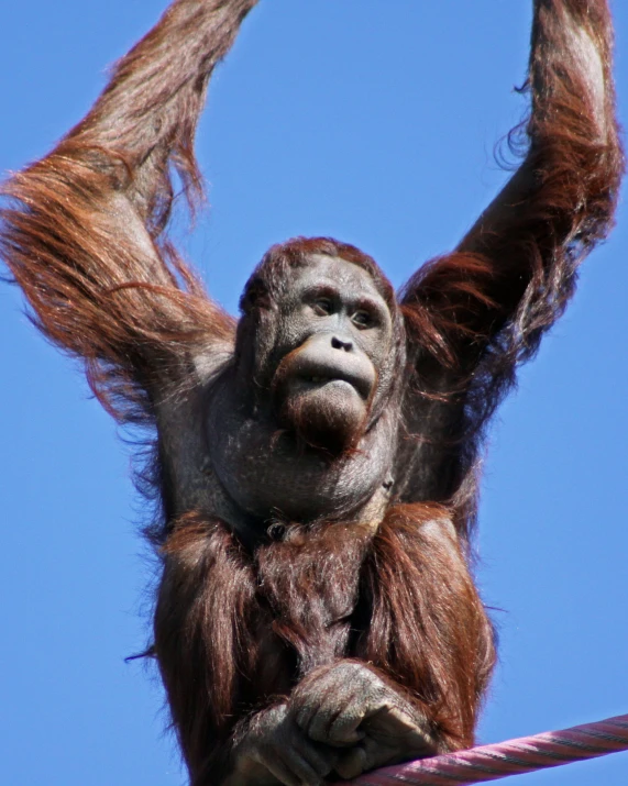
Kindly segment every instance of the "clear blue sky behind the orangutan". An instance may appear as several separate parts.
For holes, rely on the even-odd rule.
[[[0,169],[43,155],[163,0],[0,4]],[[199,130],[211,209],[187,241],[231,311],[273,242],[331,234],[396,285],[451,248],[507,176],[528,0],[262,0]],[[628,123],[628,4],[615,2]],[[624,200],[625,202],[625,200]],[[500,664],[485,742],[628,712],[628,210],[499,411],[478,582]],[[152,566],[129,449],[76,363],[0,286],[0,783],[184,783],[148,635]],[[520,778],[625,786],[628,754]],[[517,782],[519,783],[519,781]]]

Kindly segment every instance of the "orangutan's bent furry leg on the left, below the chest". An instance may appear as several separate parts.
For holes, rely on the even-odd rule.
[[[162,545],[154,652],[192,783],[220,783],[238,718],[255,588],[251,566],[218,521],[188,513]]]

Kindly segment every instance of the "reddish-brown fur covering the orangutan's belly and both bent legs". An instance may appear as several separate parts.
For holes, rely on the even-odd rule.
[[[194,784],[227,767],[239,717],[340,657],[403,686],[443,750],[473,743],[493,635],[445,509],[393,507],[374,536],[294,527],[254,555],[190,514],[164,552],[156,654]]]

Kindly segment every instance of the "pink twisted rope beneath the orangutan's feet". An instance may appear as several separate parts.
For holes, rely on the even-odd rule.
[[[621,715],[564,731],[397,764],[362,775],[352,783],[356,786],[465,786],[626,750],[628,715]]]

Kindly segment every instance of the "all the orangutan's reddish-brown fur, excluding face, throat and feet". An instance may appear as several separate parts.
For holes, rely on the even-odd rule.
[[[122,422],[155,428],[162,402],[194,389],[195,358],[233,348],[236,330],[236,362],[262,385],[256,375],[274,370],[253,356],[260,331],[273,330],[265,306],[312,253],[368,270],[393,317],[393,354],[407,353],[390,399],[403,401],[388,409],[404,435],[393,503],[375,533],[352,520],[287,523],[280,538],[245,549],[211,511],[175,509],[159,447],[153,652],[194,786],[220,782],[230,741],[254,710],[305,689],[312,669],[338,658],[367,663],[397,686],[443,750],[473,742],[494,662],[467,568],[482,436],[516,365],[565,308],[579,263],[608,232],[623,174],[607,3],[536,0],[529,147],[459,247],[415,274],[397,306],[353,246],[275,246],[252,276],[236,329],[164,229],[170,166],[190,200],[200,193],[194,135],[205,89],[255,3],[173,3],[87,118],[5,184],[12,201],[0,212],[0,251],[35,324],[84,358],[96,395]],[[599,54],[602,98],[570,51],[570,24]]]

